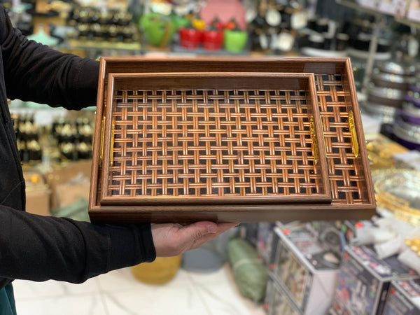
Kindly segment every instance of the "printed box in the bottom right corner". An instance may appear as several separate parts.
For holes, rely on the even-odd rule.
[[[382,314],[420,314],[420,279],[392,281]]]

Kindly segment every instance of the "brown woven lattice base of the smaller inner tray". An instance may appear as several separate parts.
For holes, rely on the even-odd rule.
[[[130,90],[113,98],[109,195],[325,193],[305,91]]]

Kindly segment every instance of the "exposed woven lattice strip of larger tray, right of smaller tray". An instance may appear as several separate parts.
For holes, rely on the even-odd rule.
[[[332,200],[342,204],[363,203],[366,179],[351,144],[349,91],[343,89],[339,75],[317,75],[316,90]]]

